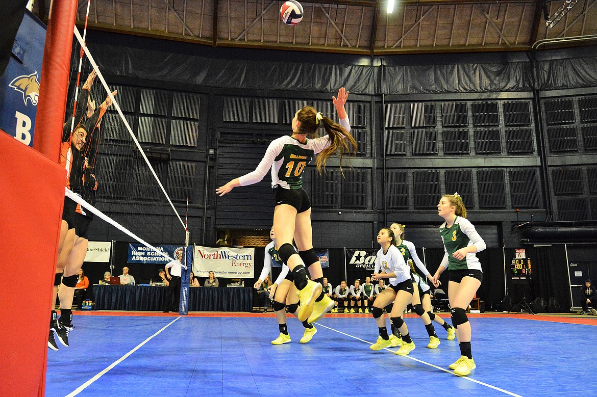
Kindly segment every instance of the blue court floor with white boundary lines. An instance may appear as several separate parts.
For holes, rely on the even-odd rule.
[[[292,342],[281,346],[270,344],[279,334],[274,315],[258,316],[76,315],[70,347],[48,350],[46,395],[597,395],[592,318],[471,318],[477,368],[461,378],[447,369],[460,356],[457,342],[438,324],[441,345],[427,349],[423,323],[407,318],[417,348],[402,357],[369,349],[377,339],[371,315],[328,315],[305,345],[303,326],[289,317]]]

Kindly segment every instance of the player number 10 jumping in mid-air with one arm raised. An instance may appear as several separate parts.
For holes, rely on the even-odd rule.
[[[291,123],[293,133],[274,139],[256,170],[216,189],[216,193],[223,196],[235,187],[261,181],[267,170],[271,169],[272,188],[276,198],[273,226],[278,237],[278,253],[282,262],[293,273],[294,284],[300,293],[298,320],[308,319],[310,323],[333,308],[334,302],[327,294],[322,293],[321,281],[324,275],[319,258],[313,250],[311,203],[303,189],[303,171],[315,154],[319,153],[316,163],[321,172],[327,160],[336,152],[340,160],[344,151],[356,152],[356,141],[350,135],[350,122],[344,109],[347,98],[348,91],[344,88],[338,90],[338,98],[332,97],[340,124],[313,107],[305,106],[298,110]],[[325,137],[316,135],[320,126],[327,133]],[[293,238],[298,253],[292,245]],[[308,266],[313,280],[307,277],[305,266]]]

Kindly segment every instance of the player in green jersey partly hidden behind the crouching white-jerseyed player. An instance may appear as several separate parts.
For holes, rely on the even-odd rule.
[[[392,225],[390,225],[390,229],[392,229],[394,235],[396,236],[396,248],[398,248],[402,254],[404,262],[416,263],[421,274],[426,275],[429,280],[432,280],[433,277],[429,274],[429,271],[427,271],[424,263],[418,258],[417,250],[414,244],[411,243],[411,241],[404,240],[404,228],[405,225],[399,224],[397,222],[394,222]],[[411,271],[411,276],[412,275],[413,272]],[[436,349],[439,346],[439,338],[435,333],[435,328],[433,327],[430,315],[427,314],[427,312],[423,309],[423,305],[421,305],[421,297],[418,294],[418,287],[416,283],[414,283],[414,280],[413,299],[411,303],[413,304],[413,311],[418,315],[418,317],[421,318],[421,321],[423,321],[423,325],[425,325],[425,329],[427,330],[427,334],[429,335],[429,343],[427,344],[427,348]]]

